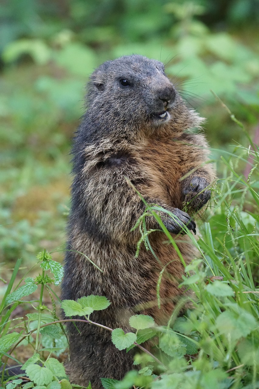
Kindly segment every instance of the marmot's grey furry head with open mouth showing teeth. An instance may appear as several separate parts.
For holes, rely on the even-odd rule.
[[[107,61],[93,72],[87,87],[87,116],[105,132],[126,128],[131,134],[143,128],[154,132],[168,123],[176,127],[193,123],[191,111],[159,61],[140,55]]]

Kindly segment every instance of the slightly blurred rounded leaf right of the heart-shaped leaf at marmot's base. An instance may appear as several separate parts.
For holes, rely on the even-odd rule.
[[[179,337],[172,329],[167,329],[166,332],[160,336],[159,347],[171,357],[181,358],[186,354],[184,343],[180,341]]]

